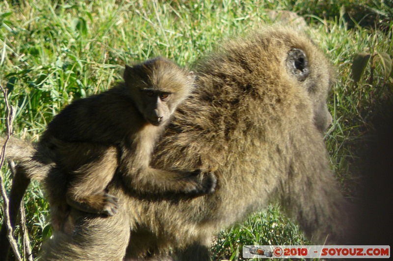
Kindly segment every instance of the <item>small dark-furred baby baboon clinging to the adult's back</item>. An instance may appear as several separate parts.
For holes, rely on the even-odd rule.
[[[63,216],[68,205],[94,214],[115,214],[117,198],[105,189],[117,168],[124,174],[124,186],[139,194],[214,191],[216,178],[211,173],[149,166],[155,143],[193,84],[193,72],[159,57],[126,65],[123,83],[76,100],[56,115],[36,145],[55,165],[45,179],[55,229],[64,229],[57,216]],[[21,160],[23,166],[26,159],[18,157],[21,146],[12,139],[7,158]],[[32,154],[28,151],[29,157]],[[35,179],[42,175],[27,174]]]

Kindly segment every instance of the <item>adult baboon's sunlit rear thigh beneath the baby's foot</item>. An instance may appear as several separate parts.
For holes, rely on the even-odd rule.
[[[40,253],[45,261],[121,261],[130,239],[130,223],[124,207],[114,216],[91,216],[72,209],[73,232],[55,232]]]

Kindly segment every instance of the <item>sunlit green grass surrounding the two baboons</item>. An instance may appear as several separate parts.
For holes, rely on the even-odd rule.
[[[356,162],[367,139],[364,134],[373,128],[368,123],[373,115],[384,113],[380,105],[392,101],[393,80],[384,77],[382,63],[374,59],[355,84],[352,59],[358,52],[393,56],[393,22],[389,20],[393,6],[377,0],[294,2],[1,1],[0,84],[7,88],[9,102],[15,107],[15,135],[36,140],[72,100],[106,90],[119,80],[125,63],[162,55],[190,67],[225,39],[269,24],[267,9],[294,10],[306,17],[306,31],[337,68],[337,83],[329,98],[334,123],[325,139],[342,190],[348,197],[356,197]],[[1,131],[5,130],[5,117],[0,97]],[[5,166],[2,170],[9,188],[10,171]],[[24,203],[36,254],[42,240],[51,234],[48,204],[38,184],[30,185]],[[17,238],[21,242],[19,235]],[[215,260],[241,259],[239,251],[246,244],[308,243],[278,206],[212,240]]]

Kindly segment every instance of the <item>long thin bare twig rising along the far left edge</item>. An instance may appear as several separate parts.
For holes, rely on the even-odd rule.
[[[7,142],[9,140],[9,138],[12,135],[12,120],[13,120],[13,107],[9,106],[8,104],[8,99],[7,99],[7,91],[4,90],[4,88],[0,85],[0,90],[4,95],[4,101],[5,101],[5,107],[7,108],[7,123],[6,123],[6,127],[7,127],[7,137],[5,139],[4,145],[2,146],[2,149],[0,151],[0,167],[3,165],[4,163],[4,157],[5,157],[5,147],[7,145]],[[11,248],[12,251],[15,254],[15,258],[18,261],[22,261],[21,255],[19,253],[18,250],[18,245],[16,243],[15,238],[13,237],[13,231],[12,231],[12,226],[11,226],[11,222],[9,220],[9,200],[7,197],[7,193],[5,192],[5,187],[4,187],[4,182],[3,182],[3,176],[1,173],[1,168],[0,168],[0,190],[1,190],[1,197],[3,199],[4,202],[4,217],[3,217],[3,226],[4,224],[7,227],[7,238],[8,241],[11,244]]]

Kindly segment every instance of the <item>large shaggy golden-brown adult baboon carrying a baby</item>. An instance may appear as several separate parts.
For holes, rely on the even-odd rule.
[[[214,233],[277,200],[313,242],[344,242],[349,213],[321,133],[334,77],[320,50],[298,32],[268,28],[220,47],[195,70],[197,89],[152,164],[215,168],[216,191],[140,195],[116,173],[108,190],[118,212],[104,218],[72,209],[73,233],[56,231],[44,260],[209,260]]]

